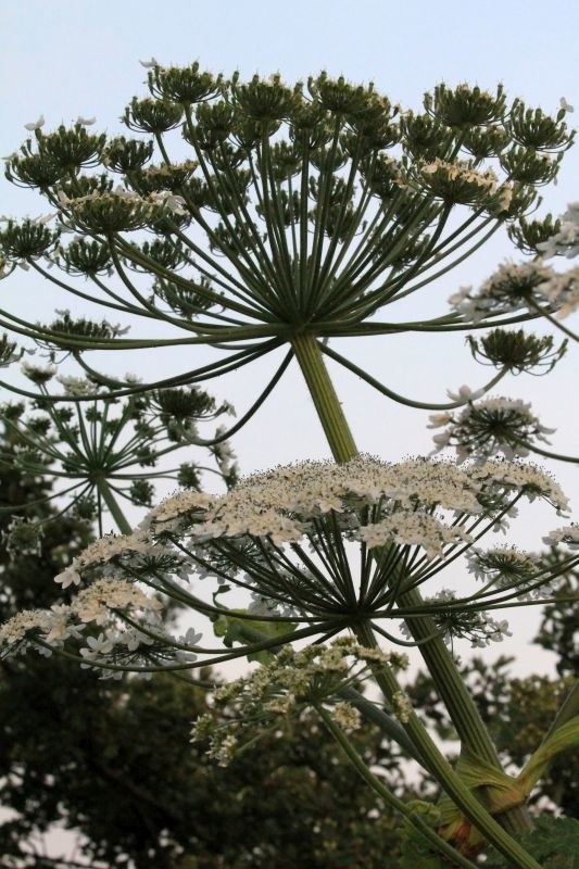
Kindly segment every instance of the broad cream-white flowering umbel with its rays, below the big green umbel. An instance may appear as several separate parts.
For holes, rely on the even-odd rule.
[[[557,512],[567,504],[555,481],[532,465],[491,461],[457,467],[424,458],[391,465],[369,456],[343,465],[305,462],[249,477],[224,495],[179,492],[133,534],[91,544],[58,580],[76,583],[79,596],[88,595],[90,605],[67,610],[72,624],[96,620],[104,631],[99,650],[118,669],[188,669],[197,654],[200,663],[218,659],[218,648],[203,655],[196,644],[172,640],[149,617],[139,621],[139,613],[155,610],[156,597],[166,595],[216,620],[229,646],[237,640],[257,651],[331,637],[364,620],[404,643],[383,625],[426,613],[436,620],[439,610],[441,633],[452,630],[456,610],[457,635],[469,635],[465,613],[471,613],[473,630],[487,637],[480,613],[549,581],[540,558],[533,569],[525,562],[524,577],[512,565],[501,574],[495,559],[488,577],[482,571],[482,590],[462,585],[451,602],[433,597],[408,608],[404,593],[462,557],[487,531],[503,527],[521,498],[544,499]],[[121,597],[110,596],[119,582]],[[138,601],[123,597],[130,583],[140,589]],[[241,592],[236,607],[246,596],[244,608],[221,603],[232,589]],[[1,629],[9,650],[22,642],[45,647],[49,637],[58,644],[73,635],[61,621],[55,634],[46,616],[29,625],[17,618],[16,633],[10,622]],[[130,655],[122,647],[121,624],[130,629]],[[93,660],[95,642],[83,653],[85,663]]]

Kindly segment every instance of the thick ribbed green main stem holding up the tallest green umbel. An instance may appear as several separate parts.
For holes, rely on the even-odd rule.
[[[314,335],[300,335],[292,339],[292,347],[333,458],[338,463],[348,462],[358,454],[358,450],[326,368],[317,339]],[[401,594],[397,603],[403,607],[417,609],[423,605],[423,597],[420,592],[415,589]],[[436,633],[436,626],[428,616],[408,619],[408,628],[416,641],[424,641],[426,637],[432,638],[432,634]],[[484,722],[442,639],[435,637],[420,642],[419,650],[463,745],[502,771],[501,761]],[[525,806],[517,806],[504,811],[500,816],[500,822],[509,832],[532,829],[532,822]]]

